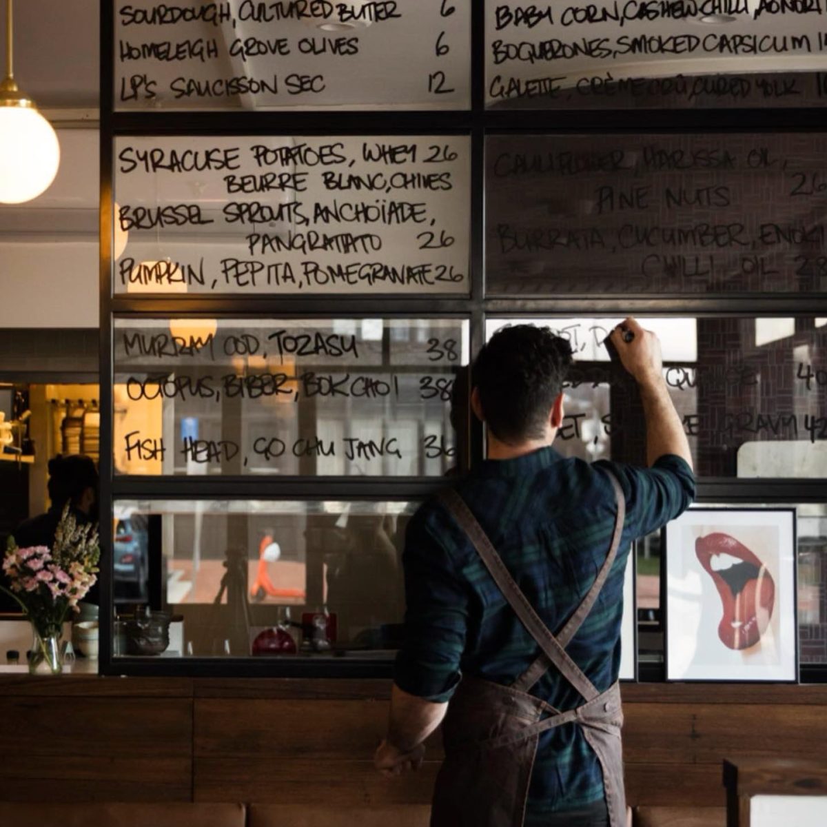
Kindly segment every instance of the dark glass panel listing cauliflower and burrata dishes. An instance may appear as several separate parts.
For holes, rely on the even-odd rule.
[[[490,136],[491,294],[827,289],[827,138]]]

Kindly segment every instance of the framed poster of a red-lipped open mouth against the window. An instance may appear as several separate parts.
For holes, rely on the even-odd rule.
[[[690,509],[666,528],[668,681],[796,681],[796,510]]]

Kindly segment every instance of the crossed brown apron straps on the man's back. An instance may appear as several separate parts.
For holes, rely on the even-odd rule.
[[[594,700],[600,696],[600,692],[595,689],[594,684],[583,674],[580,667],[571,660],[564,647],[574,637],[577,629],[580,629],[581,624],[595,604],[597,595],[600,594],[600,589],[603,588],[606,578],[609,576],[609,571],[617,555],[620,536],[623,533],[626,500],[623,490],[621,490],[620,484],[613,474],[609,473],[609,479],[614,488],[614,497],[617,502],[617,516],[614,519],[614,533],[612,534],[609,553],[586,597],[575,613],[571,615],[571,618],[566,621],[566,625],[557,637],[547,629],[546,624],[543,623],[526,596],[523,595],[522,590],[514,582],[514,578],[509,573],[495,547],[491,544],[488,535],[483,531],[480,523],[477,522],[474,514],[471,514],[471,509],[468,508],[465,500],[462,500],[461,496],[453,489],[440,492],[440,499],[449,512],[453,514],[461,528],[465,530],[477,553],[482,558],[482,562],[485,563],[485,567],[490,571],[497,586],[500,586],[505,599],[508,600],[509,605],[517,613],[520,621],[528,629],[528,633],[543,652],[538,660],[528,667],[528,671],[519,677],[514,685],[515,689],[528,691],[528,688],[533,686],[553,663],[562,673],[562,676],[571,683],[571,686],[574,686],[586,701]]]

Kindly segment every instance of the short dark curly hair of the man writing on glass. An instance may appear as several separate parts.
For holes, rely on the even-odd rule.
[[[485,424],[500,442],[541,439],[571,367],[571,347],[548,327],[503,327],[480,351],[471,386]]]

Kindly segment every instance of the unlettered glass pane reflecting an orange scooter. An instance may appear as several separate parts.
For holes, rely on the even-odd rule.
[[[160,589],[147,590],[183,618],[162,657],[392,657],[404,614],[404,531],[417,505],[119,500],[116,587],[117,538],[128,532],[144,571],[158,561]],[[135,623],[122,605],[116,655],[145,654],[129,639]]]

